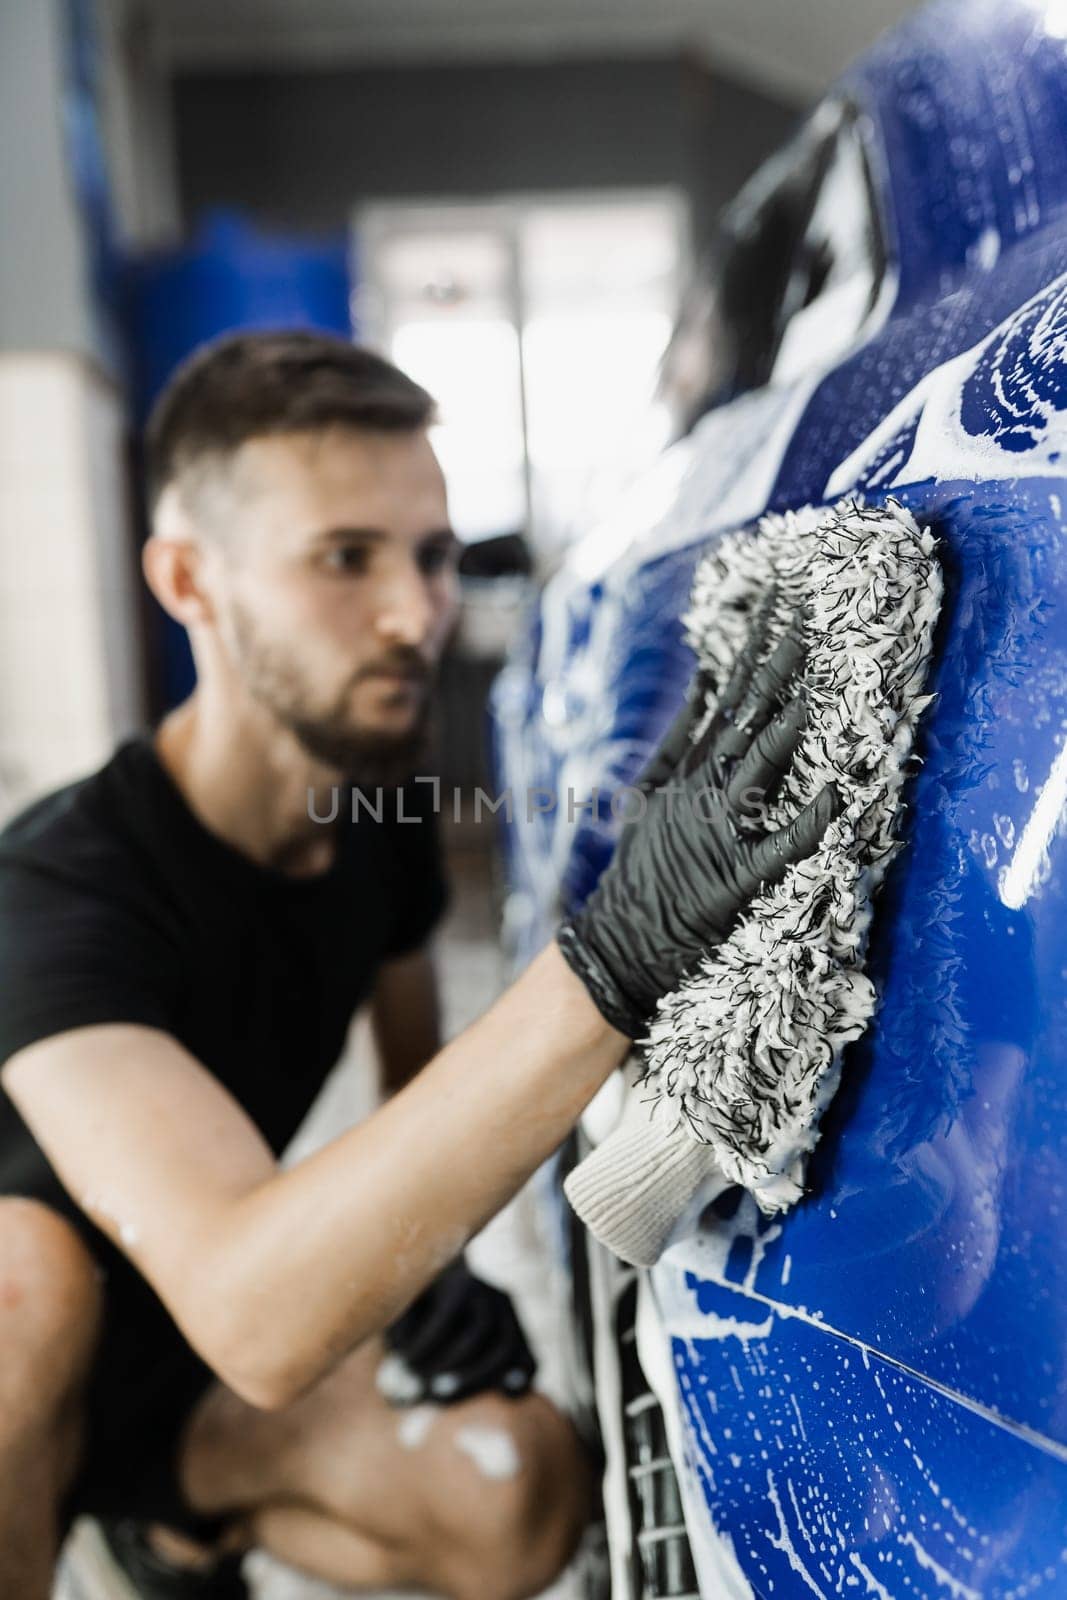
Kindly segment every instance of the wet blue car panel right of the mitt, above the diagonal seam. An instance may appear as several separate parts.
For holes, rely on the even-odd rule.
[[[1040,800],[1064,768],[1067,547],[1048,494],[921,498],[953,582],[869,952],[880,1010],[755,1286],[1067,1443],[1067,843],[1062,795],[1046,821]]]

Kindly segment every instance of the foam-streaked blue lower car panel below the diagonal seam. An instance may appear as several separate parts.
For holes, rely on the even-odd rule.
[[[1067,1456],[881,1357],[688,1278],[665,1298],[707,1595],[1067,1592]],[[686,1306],[688,1301],[688,1306]]]

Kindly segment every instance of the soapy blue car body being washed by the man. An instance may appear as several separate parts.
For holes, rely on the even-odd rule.
[[[630,1456],[629,1514],[608,1496],[619,1595],[1067,1597],[1064,35],[1059,0],[933,5],[757,176],[726,269],[806,174],[768,381],[728,374],[574,549],[498,685],[522,958],[609,858],[609,797],[681,698],[678,618],[715,538],[859,491],[941,539],[878,1011],[805,1202],[768,1221],[736,1194],[640,1277],[693,1571],[641,1565]]]

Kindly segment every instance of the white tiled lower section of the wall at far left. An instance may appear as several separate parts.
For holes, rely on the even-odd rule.
[[[0,818],[141,722],[122,429],[78,355],[0,357]]]

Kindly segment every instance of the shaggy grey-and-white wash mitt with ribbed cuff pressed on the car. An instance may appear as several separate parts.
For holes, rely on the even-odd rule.
[[[862,963],[933,698],[923,685],[942,595],[936,542],[893,499],[768,515],[729,534],[697,568],[685,616],[717,688],[771,590],[768,650],[803,614],[808,720],[766,824],[792,821],[827,782],[843,803],[814,854],[659,1002],[622,1122],[566,1181],[590,1230],[637,1266],[659,1259],[702,1187],[710,1200],[742,1184],[768,1214],[803,1195],[845,1045],[875,1008]]]

